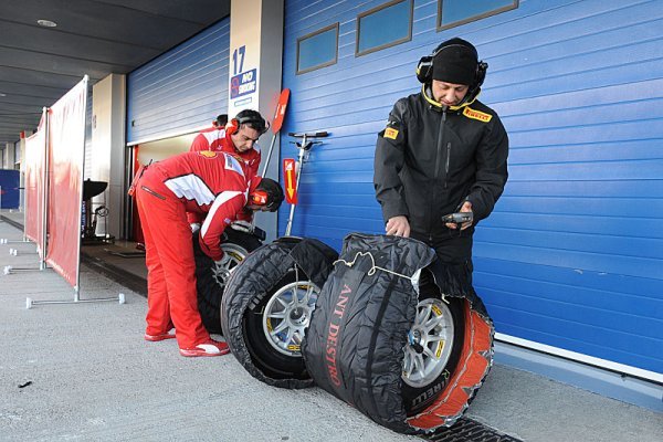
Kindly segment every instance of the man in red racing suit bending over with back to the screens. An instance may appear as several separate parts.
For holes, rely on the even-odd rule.
[[[240,211],[245,207],[273,211],[283,200],[264,191],[265,185],[273,186],[274,181],[262,180],[265,182],[249,188],[245,173],[233,156],[213,151],[180,154],[139,173],[133,188],[148,271],[146,340],[177,337],[182,356],[221,356],[229,351],[224,343],[210,338],[198,313],[187,212],[207,213],[200,246],[212,260],[220,261],[221,234]],[[278,183],[275,186],[281,190]],[[173,326],[175,335],[169,333]]]

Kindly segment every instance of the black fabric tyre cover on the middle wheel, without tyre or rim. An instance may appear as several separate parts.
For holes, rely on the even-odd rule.
[[[281,388],[313,386],[312,379],[274,379],[265,376],[252,361],[246,349],[242,319],[287,274],[298,266],[322,287],[338,253],[313,239],[281,238],[256,249],[233,271],[221,303],[221,328],[232,354],[254,378]]]

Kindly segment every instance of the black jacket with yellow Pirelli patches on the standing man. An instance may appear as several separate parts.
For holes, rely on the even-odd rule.
[[[493,211],[508,176],[508,137],[483,103],[443,110],[422,94],[399,99],[378,134],[373,183],[386,221],[406,215],[413,238],[439,244],[459,236],[441,218],[465,200],[474,225]],[[474,225],[460,234],[471,236]]]

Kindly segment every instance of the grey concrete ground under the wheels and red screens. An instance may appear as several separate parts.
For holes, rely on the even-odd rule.
[[[0,238],[21,236],[0,222]],[[0,245],[0,266],[34,267],[30,252],[29,243]],[[0,275],[0,441],[420,440],[379,427],[318,388],[269,387],[232,355],[189,359],[173,340],[143,340],[145,297],[83,266],[82,299],[120,292],[124,305],[25,309],[27,297],[70,301],[73,288],[52,270]],[[663,434],[660,412],[501,364],[467,415],[533,442],[659,442]]]

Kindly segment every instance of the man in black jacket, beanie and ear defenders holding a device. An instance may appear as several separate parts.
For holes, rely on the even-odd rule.
[[[421,92],[396,103],[375,158],[387,234],[423,241],[442,262],[467,264],[470,272],[474,225],[491,214],[507,179],[506,130],[476,99],[486,69],[457,38],[422,57]],[[473,221],[442,221],[457,211],[473,212]]]

